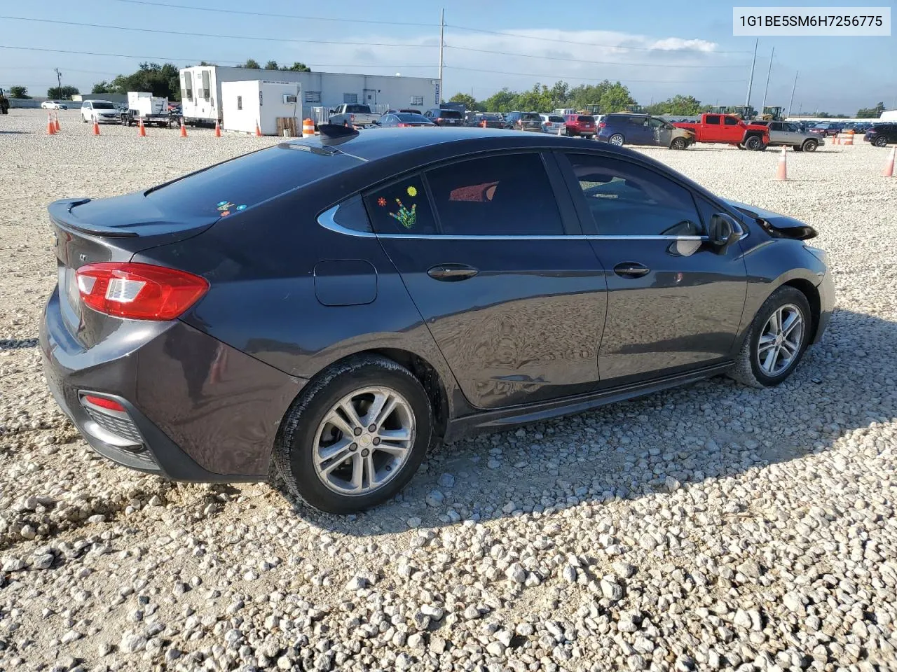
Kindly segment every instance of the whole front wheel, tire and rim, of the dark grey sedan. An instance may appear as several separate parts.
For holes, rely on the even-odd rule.
[[[753,318],[729,375],[752,387],[778,385],[804,356],[812,326],[804,293],[788,286],[776,289]]]

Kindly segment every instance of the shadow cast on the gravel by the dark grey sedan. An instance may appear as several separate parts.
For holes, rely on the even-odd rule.
[[[737,477],[897,418],[897,364],[885,356],[894,342],[897,323],[839,310],[823,342],[777,388],[718,377],[478,436],[437,449],[401,495],[372,511],[341,518],[294,509],[316,526],[364,537]]]

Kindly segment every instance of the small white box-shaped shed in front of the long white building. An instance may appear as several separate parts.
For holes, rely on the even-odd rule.
[[[295,82],[223,82],[221,105],[225,131],[277,135],[278,119],[292,119],[292,128],[302,134],[300,100],[302,87]]]

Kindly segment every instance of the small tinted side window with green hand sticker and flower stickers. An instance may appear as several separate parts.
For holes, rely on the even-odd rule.
[[[380,187],[365,197],[370,221],[377,233],[427,235],[436,222],[420,175]]]

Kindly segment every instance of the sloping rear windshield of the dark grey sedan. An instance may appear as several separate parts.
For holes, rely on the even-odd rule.
[[[237,214],[298,186],[361,164],[347,154],[308,151],[300,142],[244,154],[151,189],[146,198],[165,213]]]

